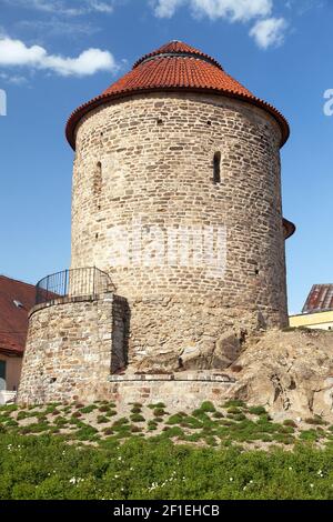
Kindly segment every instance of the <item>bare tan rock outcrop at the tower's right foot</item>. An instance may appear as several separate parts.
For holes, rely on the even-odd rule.
[[[333,420],[333,332],[272,330],[248,340],[234,364],[241,370],[229,396],[285,418]]]

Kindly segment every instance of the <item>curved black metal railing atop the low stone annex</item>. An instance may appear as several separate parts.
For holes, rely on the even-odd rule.
[[[37,283],[36,304],[62,298],[98,295],[114,290],[109,274],[95,267],[63,270],[52,273]]]

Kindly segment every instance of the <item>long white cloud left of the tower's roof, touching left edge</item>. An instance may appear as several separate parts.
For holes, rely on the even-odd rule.
[[[57,74],[91,76],[99,71],[118,70],[118,64],[109,51],[88,49],[77,58],[49,54],[40,46],[26,46],[21,40],[0,37],[0,68],[28,67],[30,69],[49,70]]]

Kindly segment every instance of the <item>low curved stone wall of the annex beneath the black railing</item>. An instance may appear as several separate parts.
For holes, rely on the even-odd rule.
[[[104,294],[32,310],[19,403],[103,399],[103,384],[125,363],[127,303]]]

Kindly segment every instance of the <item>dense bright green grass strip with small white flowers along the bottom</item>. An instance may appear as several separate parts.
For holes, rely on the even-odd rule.
[[[123,424],[124,425],[124,424]],[[158,438],[112,438],[101,446],[68,445],[61,436],[0,435],[1,500],[333,499],[333,449],[242,451],[230,444],[174,444]],[[195,443],[196,434],[186,441]]]

